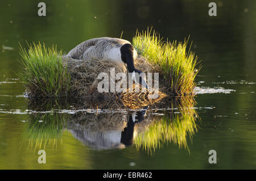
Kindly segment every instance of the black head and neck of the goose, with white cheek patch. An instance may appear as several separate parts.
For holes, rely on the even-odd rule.
[[[123,44],[120,48],[121,51],[121,59],[122,61],[127,64],[127,69],[129,73],[133,73],[132,79],[134,81],[139,82],[142,86],[147,87],[146,79],[144,77],[138,77],[138,74],[143,73],[141,70],[137,70],[134,67],[134,58],[133,58],[133,45],[131,44]],[[138,73],[138,74],[135,74]]]

